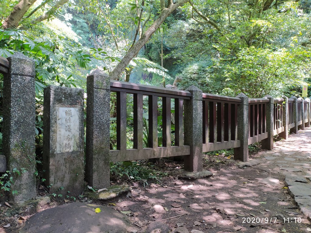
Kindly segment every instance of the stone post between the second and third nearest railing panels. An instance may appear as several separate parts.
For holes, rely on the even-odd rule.
[[[237,97],[242,100],[238,105],[238,140],[241,146],[234,148],[234,159],[245,162],[248,160],[248,97],[243,93]]]

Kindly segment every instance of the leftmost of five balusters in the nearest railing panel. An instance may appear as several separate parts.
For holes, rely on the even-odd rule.
[[[126,150],[126,92],[117,92],[117,150]]]

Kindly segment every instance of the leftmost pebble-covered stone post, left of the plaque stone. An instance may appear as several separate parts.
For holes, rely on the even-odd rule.
[[[10,188],[17,191],[11,198],[24,201],[36,195],[35,62],[22,53],[8,61],[3,80],[3,152],[14,180]],[[13,173],[16,169],[21,175]]]

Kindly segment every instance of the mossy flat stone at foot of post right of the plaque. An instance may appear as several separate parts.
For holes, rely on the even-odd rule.
[[[127,193],[130,190],[128,185],[113,185],[110,186],[107,190],[101,191],[99,193],[87,192],[86,196],[94,200],[109,200],[114,199],[121,194]]]

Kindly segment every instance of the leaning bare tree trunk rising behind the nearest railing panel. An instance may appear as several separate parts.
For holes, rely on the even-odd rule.
[[[153,24],[142,34],[141,38],[135,43],[135,45],[128,50],[122,60],[110,73],[110,78],[116,80],[122,72],[125,70],[128,63],[132,60],[133,57],[137,55],[139,50],[147,43],[152,34],[160,27],[163,21],[178,7],[182,6],[188,2],[188,0],[179,0],[175,4],[171,5],[169,8],[165,8],[160,16],[153,22]]]

